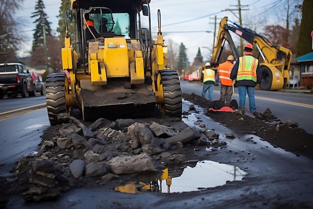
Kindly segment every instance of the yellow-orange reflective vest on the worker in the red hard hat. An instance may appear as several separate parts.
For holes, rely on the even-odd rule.
[[[256,82],[256,67],[258,60],[252,56],[239,57],[237,81],[251,80]]]

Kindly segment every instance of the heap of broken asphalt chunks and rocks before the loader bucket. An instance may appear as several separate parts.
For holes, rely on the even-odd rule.
[[[166,116],[115,121],[100,118],[93,123],[66,113],[58,118],[64,122],[44,132],[38,153],[18,161],[12,171],[15,179],[0,179],[5,188],[0,191],[0,202],[16,194],[28,201],[44,201],[77,187],[105,184],[113,188],[140,173],[156,179],[165,166],[181,168],[189,160],[198,160],[191,144],[225,144],[213,130],[199,131]]]

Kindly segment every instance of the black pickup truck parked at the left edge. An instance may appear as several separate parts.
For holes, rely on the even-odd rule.
[[[30,73],[24,72],[20,63],[0,63],[0,99],[4,95],[16,97],[36,96],[35,85]]]

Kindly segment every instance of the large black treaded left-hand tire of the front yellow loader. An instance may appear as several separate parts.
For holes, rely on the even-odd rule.
[[[46,107],[51,125],[61,121],[57,118],[59,113],[66,113],[64,74],[54,73],[46,77]]]

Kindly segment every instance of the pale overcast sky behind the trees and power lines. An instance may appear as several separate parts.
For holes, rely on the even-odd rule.
[[[32,23],[34,20],[30,16],[34,12],[36,2],[36,0],[24,0],[23,11],[17,13],[19,20],[25,23],[23,24],[25,28],[22,31],[29,37],[29,40],[32,40],[33,32],[31,30],[35,26]],[[48,21],[51,22],[51,29],[56,34],[58,24],[56,16],[58,15],[61,1],[43,0],[43,2]],[[244,23],[251,23],[254,20],[260,21],[263,17],[267,17],[265,25],[279,24],[285,27],[284,22],[277,22],[277,11],[279,11],[277,8],[281,9],[284,6],[282,2],[285,2],[285,0],[241,0],[242,25],[244,26]],[[212,32],[214,31],[215,16],[217,24],[225,16],[239,24],[237,18],[239,17],[238,11],[235,11],[238,9],[237,5],[238,0],[151,0],[152,37],[155,37],[157,33],[157,10],[159,9],[161,14],[161,31],[165,42],[171,39],[177,45],[183,43],[187,49],[189,62],[192,64],[198,48],[200,48],[204,58],[210,56],[211,51],[209,49],[213,47]],[[225,10],[234,11],[232,11],[232,14],[230,11]],[[283,10],[281,9],[280,11]],[[263,28],[263,26],[260,28]],[[193,33],[185,33],[187,31],[192,31]],[[194,31],[198,32],[194,33]],[[27,43],[23,52],[27,52],[30,49],[31,43]],[[25,56],[26,54],[20,53],[20,55]]]

